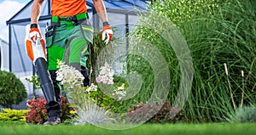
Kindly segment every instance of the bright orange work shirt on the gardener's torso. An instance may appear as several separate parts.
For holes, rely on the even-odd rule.
[[[51,14],[53,16],[67,17],[87,11],[85,0],[52,0]]]

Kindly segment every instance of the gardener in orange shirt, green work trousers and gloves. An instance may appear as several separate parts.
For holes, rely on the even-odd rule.
[[[92,0],[96,12],[102,20],[102,40],[108,43],[113,36],[113,31],[108,23],[107,12],[102,0]],[[44,0],[34,0],[32,4],[31,25],[29,37],[32,42],[41,39],[38,28],[38,16]],[[54,88],[42,87],[46,97],[46,109],[49,120],[44,125],[56,125],[61,123],[61,90],[56,81],[57,59],[64,60],[80,70],[84,75],[84,86],[90,83],[86,69],[86,59],[89,55],[87,46],[93,40],[93,28],[88,21],[85,0],[52,0],[51,1],[51,25],[46,29],[46,48],[49,75]],[[38,70],[40,72],[40,70]],[[40,77],[40,76],[39,76]]]

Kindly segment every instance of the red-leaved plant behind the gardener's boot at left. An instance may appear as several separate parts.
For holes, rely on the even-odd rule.
[[[26,113],[26,122],[32,124],[43,124],[48,120],[46,110],[46,100],[40,95],[38,98],[31,98],[26,102],[28,112]],[[61,122],[72,117],[72,107],[69,106],[67,98],[61,97]]]

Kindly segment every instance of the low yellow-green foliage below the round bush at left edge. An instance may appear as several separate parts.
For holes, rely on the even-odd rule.
[[[3,111],[0,111],[0,121],[26,121],[25,114],[27,111],[3,109]]]

